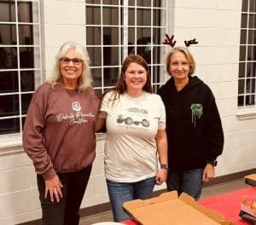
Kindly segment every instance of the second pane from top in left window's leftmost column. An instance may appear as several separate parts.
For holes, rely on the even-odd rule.
[[[15,25],[0,24],[0,44],[15,44],[16,40]]]

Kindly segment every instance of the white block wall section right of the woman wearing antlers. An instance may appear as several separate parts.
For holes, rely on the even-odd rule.
[[[256,119],[236,116],[241,0],[177,0],[172,7],[174,26],[169,31],[177,45],[193,38],[199,42],[189,47],[195,75],[211,87],[222,118],[225,144],[217,176],[255,168]]]

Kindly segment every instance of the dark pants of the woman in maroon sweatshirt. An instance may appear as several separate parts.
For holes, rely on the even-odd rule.
[[[79,209],[89,181],[91,166],[71,173],[58,174],[63,198],[60,202],[51,202],[49,194],[44,198],[44,178],[38,175],[39,199],[42,206],[44,225],[79,225]]]

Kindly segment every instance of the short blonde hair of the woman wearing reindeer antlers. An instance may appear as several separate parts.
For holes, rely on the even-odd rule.
[[[175,52],[181,52],[185,55],[187,61],[189,61],[189,76],[191,76],[195,72],[195,60],[189,49],[185,47],[175,47],[168,53],[166,56],[166,71],[172,76],[170,73],[170,62]]]

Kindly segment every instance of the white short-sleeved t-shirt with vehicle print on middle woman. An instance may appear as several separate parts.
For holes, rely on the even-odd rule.
[[[166,110],[159,95],[143,92],[102,99],[98,118],[106,118],[105,176],[113,182],[138,182],[157,173],[155,136],[166,129]],[[110,101],[109,101],[110,100]]]

